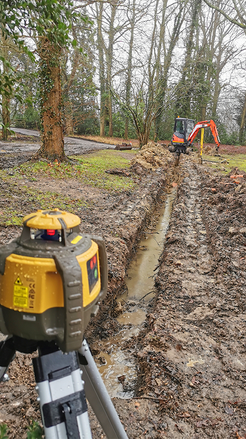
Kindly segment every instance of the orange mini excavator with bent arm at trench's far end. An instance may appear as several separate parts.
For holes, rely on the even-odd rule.
[[[191,146],[200,128],[205,128],[209,126],[215,139],[216,150],[220,145],[220,140],[218,137],[217,127],[214,120],[203,120],[202,122],[197,122],[193,119],[185,119],[184,117],[177,117],[174,124],[174,134],[171,140],[171,152],[176,152],[180,154],[183,152],[185,154],[186,148]]]

